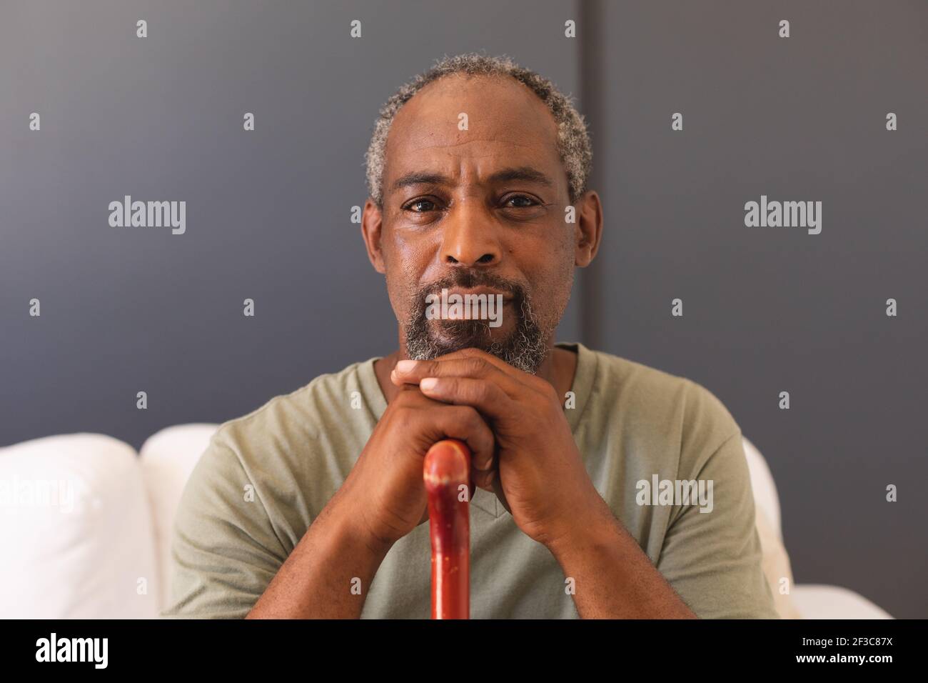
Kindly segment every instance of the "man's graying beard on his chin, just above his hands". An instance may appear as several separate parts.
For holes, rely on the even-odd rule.
[[[417,298],[417,303],[424,300]],[[431,361],[462,348],[480,348],[512,367],[529,374],[538,372],[548,354],[548,334],[538,324],[528,297],[519,297],[518,322],[508,338],[490,339],[489,321],[433,320],[426,318],[425,308],[417,305],[406,322],[406,355],[413,361]],[[516,308],[516,307],[513,307]],[[441,327],[441,336],[433,334],[430,322]]]

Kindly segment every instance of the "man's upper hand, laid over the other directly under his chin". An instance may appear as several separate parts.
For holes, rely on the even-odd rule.
[[[418,385],[435,401],[470,406],[483,415],[496,437],[496,494],[533,540],[550,546],[574,532],[577,520],[608,514],[586,473],[561,398],[546,380],[475,348],[433,361],[399,361],[391,378],[397,386]]]

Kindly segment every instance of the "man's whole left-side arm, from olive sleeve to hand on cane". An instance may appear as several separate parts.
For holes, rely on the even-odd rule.
[[[283,505],[273,495],[263,499],[269,487],[249,478],[246,465],[260,467],[262,459],[242,460],[234,443],[213,436],[178,508],[173,606],[163,616],[360,616],[390,548],[428,519],[422,460],[447,437],[470,445],[475,467],[492,461],[493,433],[475,410],[411,387],[400,392],[342,486],[298,537]]]

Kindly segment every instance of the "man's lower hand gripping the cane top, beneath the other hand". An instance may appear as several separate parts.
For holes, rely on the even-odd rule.
[[[465,441],[472,452],[471,481],[489,486],[493,432],[466,405],[448,405],[405,387],[387,406],[342,489],[338,507],[363,520],[369,537],[389,546],[429,519],[422,481],[425,453],[448,437]],[[469,498],[473,491],[468,492]],[[347,507],[342,507],[347,506]]]

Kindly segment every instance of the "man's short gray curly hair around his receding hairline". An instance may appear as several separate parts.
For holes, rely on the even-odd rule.
[[[576,203],[580,195],[586,191],[586,181],[593,165],[593,151],[584,117],[574,109],[572,99],[564,96],[547,78],[523,69],[509,57],[487,57],[469,52],[455,57],[445,56],[444,59],[436,61],[427,72],[420,73],[401,86],[380,108],[380,115],[374,125],[374,135],[370,138],[370,145],[365,154],[367,190],[378,208],[383,208],[383,165],[386,162],[387,135],[390,133],[396,112],[399,112],[400,108],[425,85],[454,73],[511,76],[535,92],[554,114],[554,120],[557,122],[558,152],[567,172],[571,204]]]

